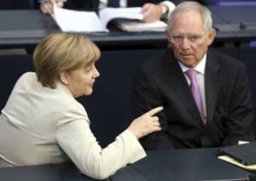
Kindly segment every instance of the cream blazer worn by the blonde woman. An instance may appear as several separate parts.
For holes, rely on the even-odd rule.
[[[25,73],[16,82],[0,116],[0,138],[0,157],[8,164],[63,163],[70,158],[95,179],[105,179],[146,156],[128,130],[102,149],[85,108],[69,89],[62,84],[43,87],[35,73]]]

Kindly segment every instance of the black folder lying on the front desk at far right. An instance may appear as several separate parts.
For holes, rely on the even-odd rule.
[[[229,156],[245,166],[256,164],[256,142],[220,148],[221,155]]]

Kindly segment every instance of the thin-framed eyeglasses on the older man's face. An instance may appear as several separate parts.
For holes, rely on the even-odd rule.
[[[203,36],[205,36],[205,34],[207,34],[207,32],[203,33],[203,34],[171,34],[171,40],[174,43],[181,43],[183,41],[184,38],[187,38],[187,40],[189,42],[192,43],[197,43],[199,42]]]

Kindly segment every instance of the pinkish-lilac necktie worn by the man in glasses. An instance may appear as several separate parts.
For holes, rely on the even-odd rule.
[[[195,99],[195,103],[197,104],[197,108],[202,118],[202,121],[203,123],[205,123],[204,113],[203,113],[202,94],[196,78],[197,72],[194,69],[189,69],[185,73],[190,79],[190,89]]]

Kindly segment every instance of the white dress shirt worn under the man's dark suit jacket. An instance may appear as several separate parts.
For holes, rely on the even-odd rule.
[[[200,62],[198,63],[197,66],[195,66],[194,70],[197,72],[197,82],[199,84],[199,89],[201,92],[201,96],[202,96],[202,102],[203,102],[203,114],[205,116],[205,120],[207,120],[207,110],[206,110],[206,99],[205,99],[205,65],[206,65],[206,60],[207,60],[207,55],[205,54],[202,58],[202,60],[200,60]],[[188,78],[188,76],[185,74],[185,72],[187,70],[189,70],[190,68],[183,65],[181,62],[179,62],[179,65],[181,66],[181,70],[184,73],[186,79],[187,79],[187,83],[190,85],[190,79]],[[205,123],[205,122],[204,122]]]

